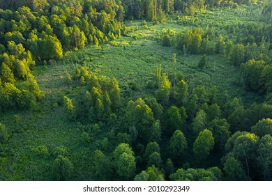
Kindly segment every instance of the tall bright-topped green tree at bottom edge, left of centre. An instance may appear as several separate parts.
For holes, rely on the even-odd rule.
[[[114,150],[114,168],[116,173],[123,180],[133,178],[136,163],[133,150],[128,143],[120,143]]]

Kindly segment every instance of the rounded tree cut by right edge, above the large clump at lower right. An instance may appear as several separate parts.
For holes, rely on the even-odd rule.
[[[251,132],[259,137],[264,137],[266,134],[272,135],[272,119],[263,118],[259,122],[251,127]]]

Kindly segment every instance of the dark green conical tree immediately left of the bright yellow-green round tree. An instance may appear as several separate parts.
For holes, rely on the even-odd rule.
[[[183,132],[181,132],[180,130],[176,130],[169,140],[170,153],[172,153],[173,157],[179,158],[183,155],[186,148],[186,137],[184,137]]]

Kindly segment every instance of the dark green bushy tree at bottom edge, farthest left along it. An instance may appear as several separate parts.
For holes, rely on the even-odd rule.
[[[73,174],[73,164],[70,162],[68,157],[59,155],[53,162],[53,173],[56,180],[68,181]]]

